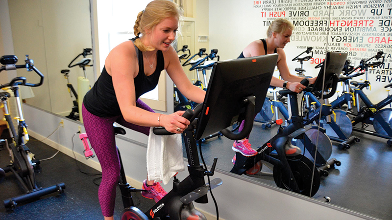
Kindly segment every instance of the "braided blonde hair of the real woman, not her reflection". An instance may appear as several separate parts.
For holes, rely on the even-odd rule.
[[[176,18],[178,21],[182,18],[182,9],[169,0],[153,0],[147,4],[146,9],[139,12],[133,33],[136,36],[135,45],[142,51],[152,51],[155,48],[146,46],[139,39],[140,34],[145,34],[146,30],[153,29],[158,23],[166,18]],[[178,26],[180,28],[180,25]],[[178,32],[180,32],[178,30]]]

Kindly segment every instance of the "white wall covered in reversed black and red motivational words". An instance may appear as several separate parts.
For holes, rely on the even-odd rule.
[[[259,14],[258,23],[265,28],[276,18],[285,18],[294,24],[291,43],[285,47],[288,61],[294,56],[288,55],[290,48],[305,51],[313,47],[314,56],[308,62],[314,65],[323,61],[327,51],[347,52],[353,66],[383,51],[385,63],[369,68],[369,81],[373,88],[392,83],[392,0],[258,0],[251,3],[254,13]]]

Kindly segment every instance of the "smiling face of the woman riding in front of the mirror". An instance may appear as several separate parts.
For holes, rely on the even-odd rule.
[[[146,36],[147,39],[150,39],[149,46],[162,51],[169,50],[170,44],[175,39],[177,29],[178,20],[176,18],[170,17],[162,20],[147,34],[150,35]]]

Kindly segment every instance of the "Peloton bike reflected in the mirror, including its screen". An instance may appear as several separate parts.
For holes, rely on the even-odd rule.
[[[326,66],[319,72],[319,76],[314,87],[307,87],[304,92],[317,92],[332,88],[333,94],[336,90],[337,79],[335,73],[340,73],[343,69],[345,58],[331,59],[330,53],[326,55]],[[333,53],[334,54],[334,53]],[[335,54],[334,54],[335,55]],[[325,80],[324,80],[325,78]],[[325,81],[325,82],[324,82]],[[309,80],[304,78],[301,84],[308,86]],[[313,197],[319,190],[320,174],[328,176],[329,169],[334,168],[334,165],[340,166],[341,162],[329,157],[332,154],[332,144],[329,138],[324,134],[322,128],[315,128],[312,124],[319,118],[320,115],[330,115],[333,109],[330,105],[321,105],[317,110],[309,112],[306,116],[302,116],[298,111],[297,93],[288,89],[279,91],[280,95],[288,95],[292,111],[292,123],[287,127],[280,127],[278,133],[269,141],[257,149],[258,154],[254,156],[245,157],[241,153],[236,153],[234,167],[230,172],[235,174],[252,173],[247,172],[262,166],[258,163],[263,160],[273,165],[272,176],[276,185],[280,188],[293,191],[305,196]],[[319,132],[320,130],[320,132]],[[318,149],[317,136],[311,135],[314,132],[319,132],[319,142],[328,141],[330,145]],[[321,141],[323,139],[323,141]],[[287,156],[285,154],[285,145],[292,144],[295,141],[296,146],[301,144],[303,153],[296,156]],[[324,143],[321,143],[321,145]],[[300,147],[302,147],[300,146]],[[316,161],[317,168],[314,169],[314,163],[305,155],[305,149],[313,160]],[[272,153],[275,150],[276,153]],[[328,161],[327,161],[328,160]]]

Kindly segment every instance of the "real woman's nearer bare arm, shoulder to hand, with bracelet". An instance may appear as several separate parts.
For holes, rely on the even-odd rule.
[[[162,126],[173,133],[180,133],[176,131],[177,128],[183,131],[188,127],[190,122],[180,117],[183,111],[161,115],[136,107],[133,79],[139,71],[139,66],[132,42],[125,42],[115,47],[106,58],[105,66],[112,76],[117,101],[125,121],[147,127]]]

